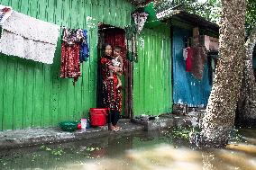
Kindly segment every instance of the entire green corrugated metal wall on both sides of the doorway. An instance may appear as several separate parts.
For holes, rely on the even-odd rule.
[[[133,6],[125,0],[0,0],[14,10],[71,28],[89,30],[91,56],[76,86],[59,78],[60,37],[54,64],[0,55],[0,130],[56,126],[96,106],[97,22],[124,27]],[[134,64],[134,113],[171,112],[169,29],[144,30]]]

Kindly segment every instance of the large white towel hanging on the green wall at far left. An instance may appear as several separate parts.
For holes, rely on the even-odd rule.
[[[52,64],[59,25],[14,13],[3,25],[0,51],[6,55]]]

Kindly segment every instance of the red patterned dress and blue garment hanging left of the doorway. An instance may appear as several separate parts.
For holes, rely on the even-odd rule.
[[[86,36],[85,36],[86,35]],[[74,83],[81,76],[80,62],[88,58],[87,31],[78,29],[63,29],[61,43],[61,78],[74,78]]]

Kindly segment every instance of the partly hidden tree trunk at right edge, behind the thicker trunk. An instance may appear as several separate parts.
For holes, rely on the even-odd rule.
[[[238,102],[236,121],[241,126],[256,125],[256,83],[252,68],[252,52],[256,43],[256,27],[245,43],[245,66],[242,73],[241,96]]]

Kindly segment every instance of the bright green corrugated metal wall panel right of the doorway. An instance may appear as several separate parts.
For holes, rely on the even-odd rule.
[[[171,112],[171,53],[169,28],[144,30],[138,40],[139,62],[134,64],[134,115]]]

